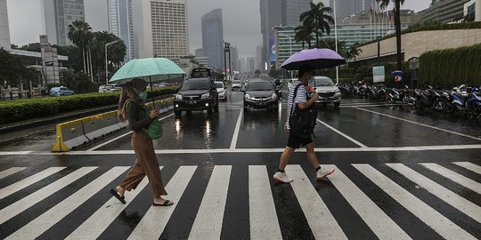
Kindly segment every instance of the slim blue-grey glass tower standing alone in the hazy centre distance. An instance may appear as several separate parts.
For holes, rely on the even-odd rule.
[[[217,8],[201,18],[202,50],[208,57],[208,65],[212,68],[224,68],[224,28],[222,9]]]

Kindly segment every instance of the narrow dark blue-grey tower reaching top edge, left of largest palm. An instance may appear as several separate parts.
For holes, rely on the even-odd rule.
[[[260,0],[260,17],[262,33],[262,68],[260,70],[269,70],[271,62],[275,61],[273,27],[281,25],[281,4],[279,4],[279,1]]]

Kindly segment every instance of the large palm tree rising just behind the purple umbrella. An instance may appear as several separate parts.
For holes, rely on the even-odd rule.
[[[330,16],[332,9],[324,6],[322,2],[314,4],[310,3],[311,9],[302,12],[299,21],[303,22],[305,26],[312,26],[315,33],[315,45],[319,46],[319,36],[322,33],[330,35],[330,26],[334,24],[334,19]]]

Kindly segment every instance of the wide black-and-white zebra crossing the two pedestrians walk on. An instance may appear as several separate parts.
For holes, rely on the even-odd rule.
[[[29,167],[4,169],[0,171],[0,238],[96,239],[111,238],[121,231],[125,239],[225,239],[223,232],[228,227],[223,222],[232,212],[227,207],[228,193],[236,188],[232,180],[239,176],[237,167],[161,167],[167,198],[175,201],[170,207],[150,205],[147,178],[126,193],[126,204],[110,196],[109,189],[123,178],[128,166],[45,167],[33,174]],[[286,167],[294,179],[290,184],[273,182],[273,172],[266,165],[242,168],[248,171],[241,182],[247,186],[243,194],[249,204],[240,211],[248,212],[249,217],[239,217],[239,221],[249,225],[243,229],[248,232],[246,238],[348,239],[354,236],[346,222],[357,218],[362,221],[359,226],[366,226],[367,236],[379,239],[427,238],[420,235],[426,231],[444,239],[481,238],[481,165],[477,162],[325,167],[337,170],[328,180],[318,182],[314,170],[290,164]],[[371,190],[382,192],[386,201],[372,196]],[[200,196],[197,191],[202,192]],[[343,201],[349,207],[336,211],[333,206]],[[186,210],[192,211],[190,221],[173,222]],[[128,228],[118,229],[127,212],[136,212],[138,219]],[[343,220],[347,213],[356,217]],[[286,216],[292,215],[298,219],[285,222]],[[417,230],[407,223],[412,219],[418,223]],[[283,227],[290,221],[301,226],[306,222],[306,228],[297,229],[303,233],[291,235]],[[181,228],[183,235],[176,236],[171,228]]]

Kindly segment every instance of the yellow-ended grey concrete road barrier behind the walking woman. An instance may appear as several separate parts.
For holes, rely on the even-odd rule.
[[[168,99],[172,100],[172,99]],[[159,100],[163,106],[167,100]],[[157,102],[156,102],[157,103]],[[146,103],[151,105],[152,103]],[[166,113],[174,109],[167,106],[160,109],[160,113]],[[120,122],[117,110],[94,116],[87,116],[77,120],[57,124],[53,152],[68,152],[94,140],[101,139],[112,132],[118,132],[128,126],[127,122]]]

